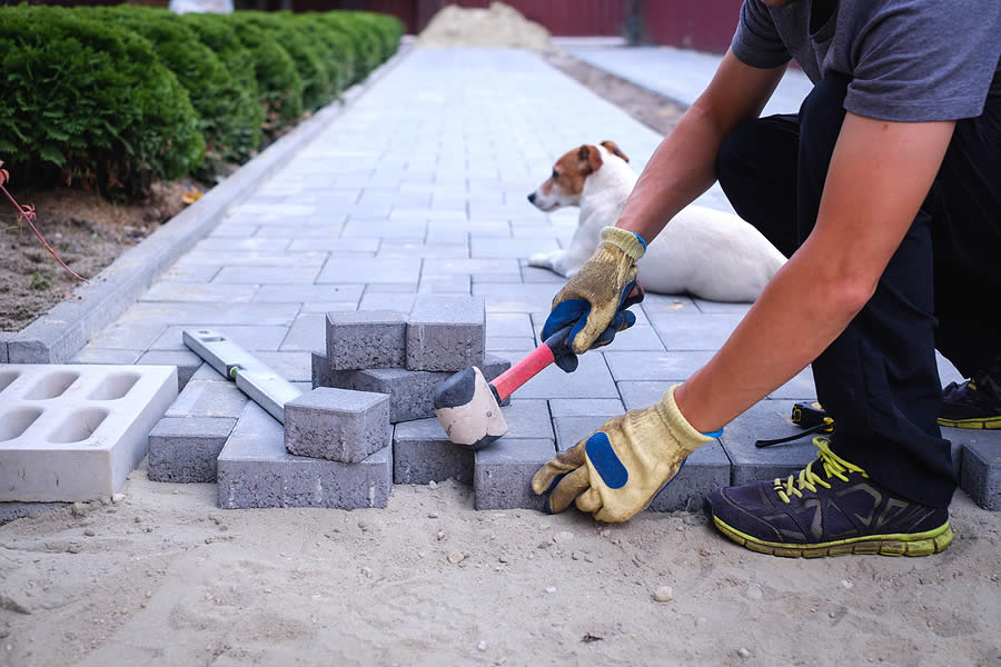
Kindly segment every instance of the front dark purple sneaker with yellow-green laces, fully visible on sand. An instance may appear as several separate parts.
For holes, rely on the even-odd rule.
[[[949,510],[901,498],[814,438],[799,475],[720,489],[707,498],[723,535],[751,550],[796,558],[926,556],[952,541]]]

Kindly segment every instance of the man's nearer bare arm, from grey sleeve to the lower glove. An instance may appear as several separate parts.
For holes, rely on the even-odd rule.
[[[954,125],[848,113],[813,233],[720,351],[675,394],[692,426],[703,432],[723,427],[848,327],[913,222]]]

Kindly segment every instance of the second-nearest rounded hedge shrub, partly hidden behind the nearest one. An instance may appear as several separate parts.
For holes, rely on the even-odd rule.
[[[112,21],[150,41],[160,62],[177,76],[188,90],[198,113],[198,129],[205,136],[207,171],[211,178],[216,165],[229,158],[236,142],[239,116],[239,90],[222,61],[192,32],[177,14],[147,7],[77,8],[100,20]]]

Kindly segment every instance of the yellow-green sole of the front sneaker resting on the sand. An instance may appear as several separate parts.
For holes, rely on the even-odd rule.
[[[736,544],[771,556],[783,558],[821,558],[823,556],[848,556],[849,554],[879,554],[880,556],[930,556],[952,544],[952,526],[945,521],[934,530],[898,535],[868,535],[816,545],[789,545],[770,542],[731,528],[713,517],[716,528]]]

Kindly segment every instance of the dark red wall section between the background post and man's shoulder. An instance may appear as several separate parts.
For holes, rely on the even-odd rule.
[[[646,41],[723,53],[730,48],[741,0],[643,0]]]

